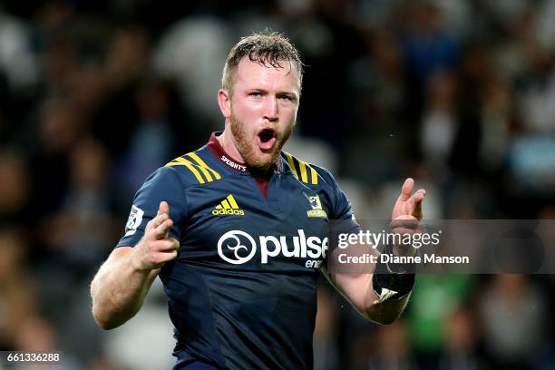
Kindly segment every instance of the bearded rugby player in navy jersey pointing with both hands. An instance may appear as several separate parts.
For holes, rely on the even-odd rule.
[[[134,316],[160,276],[174,368],[312,367],[330,220],[358,225],[327,170],[281,151],[295,127],[302,67],[281,34],[253,34],[231,49],[218,93],[224,131],[146,180],[125,235],[93,279],[102,328]],[[422,218],[424,190],[413,187],[405,181],[393,219]],[[362,315],[390,323],[414,275],[366,268],[326,275]]]

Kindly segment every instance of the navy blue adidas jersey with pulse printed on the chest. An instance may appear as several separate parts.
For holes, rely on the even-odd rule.
[[[350,204],[327,170],[286,152],[265,197],[246,166],[210,142],[146,180],[118,247],[134,246],[169,203],[180,249],[160,277],[176,368],[312,368],[328,220],[351,219]]]

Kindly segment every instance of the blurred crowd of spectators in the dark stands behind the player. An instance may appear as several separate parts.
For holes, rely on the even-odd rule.
[[[0,350],[170,366],[160,287],[105,333],[88,284],[142,181],[223,127],[225,57],[265,28],[307,64],[287,151],[330,169],[357,218],[386,219],[412,176],[426,219],[555,219],[553,19],[555,0],[0,2]],[[316,369],[553,368],[553,288],[419,276],[375,326],[322,281]]]

